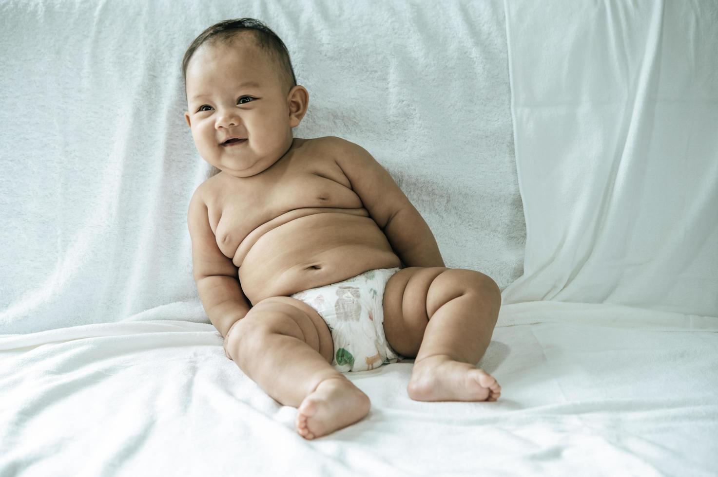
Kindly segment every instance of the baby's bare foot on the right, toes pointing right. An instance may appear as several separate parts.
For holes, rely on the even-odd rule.
[[[415,363],[406,390],[415,401],[495,401],[501,395],[493,376],[445,355]]]

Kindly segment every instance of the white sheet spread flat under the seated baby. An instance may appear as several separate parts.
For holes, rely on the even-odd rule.
[[[503,306],[493,403],[414,402],[411,362],[348,376],[372,408],[307,441],[204,323],[0,338],[0,476],[711,476],[718,323],[625,306]]]

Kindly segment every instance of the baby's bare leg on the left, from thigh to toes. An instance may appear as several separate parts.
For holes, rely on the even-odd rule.
[[[291,297],[266,298],[235,323],[227,354],[269,396],[299,408],[297,432],[312,439],[368,414],[367,395],[338,372],[332,337],[319,313]]]

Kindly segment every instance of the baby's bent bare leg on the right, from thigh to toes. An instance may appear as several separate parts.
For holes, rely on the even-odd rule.
[[[386,283],[384,333],[416,356],[407,391],[419,401],[495,401],[501,387],[479,369],[498,318],[501,293],[475,270],[409,267]]]

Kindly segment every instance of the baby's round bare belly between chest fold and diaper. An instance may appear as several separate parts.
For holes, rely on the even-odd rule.
[[[239,280],[254,305],[366,270],[399,266],[401,260],[371,217],[323,212],[266,232],[242,261]]]

